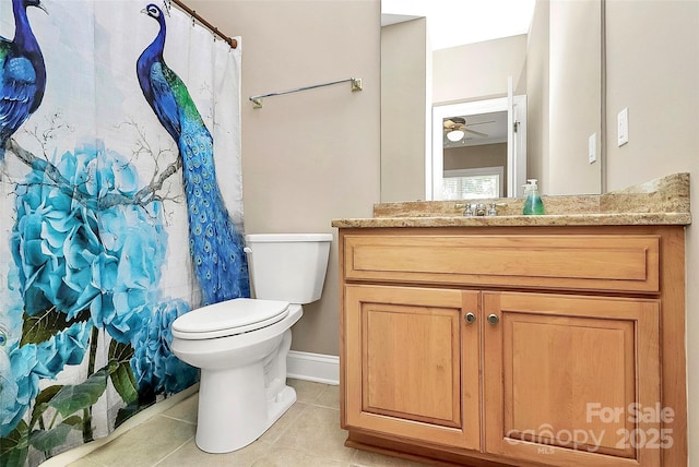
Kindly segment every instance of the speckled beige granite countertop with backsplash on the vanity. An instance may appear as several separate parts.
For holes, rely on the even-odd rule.
[[[374,217],[339,218],[339,228],[689,225],[689,173],[601,195],[542,196],[546,214],[524,216],[524,200],[377,203]],[[497,216],[464,217],[465,203],[497,204]]]

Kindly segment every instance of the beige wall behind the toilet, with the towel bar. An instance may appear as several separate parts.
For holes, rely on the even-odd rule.
[[[379,0],[188,0],[230,36],[242,37],[245,227],[259,232],[334,232],[335,217],[371,216],[379,201]],[[323,82],[348,83],[247,98]],[[222,177],[223,178],[223,177]],[[293,348],[339,354],[337,248],[323,297],[304,307]]]

